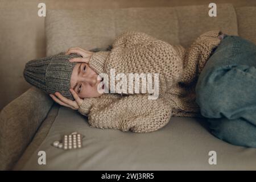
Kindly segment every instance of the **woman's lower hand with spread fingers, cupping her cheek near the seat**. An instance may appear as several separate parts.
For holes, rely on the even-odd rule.
[[[62,96],[59,92],[55,92],[55,95],[49,94],[49,96],[51,96],[51,98],[61,106],[66,106],[71,109],[77,110],[82,105],[82,102],[84,100],[82,100],[82,98],[80,98],[73,89],[69,90],[75,98],[75,101],[69,100],[68,98]]]

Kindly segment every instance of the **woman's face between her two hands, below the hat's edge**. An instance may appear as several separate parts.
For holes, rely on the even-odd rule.
[[[77,63],[71,75],[71,88],[80,98],[100,97],[104,94],[101,77],[86,63]],[[98,92],[100,90],[101,92]]]

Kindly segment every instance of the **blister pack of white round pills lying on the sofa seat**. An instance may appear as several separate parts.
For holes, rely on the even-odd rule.
[[[63,150],[72,150],[82,147],[82,138],[84,135],[81,135],[77,132],[73,132],[68,135],[64,135],[60,141],[55,141],[52,143],[53,147],[61,148]]]

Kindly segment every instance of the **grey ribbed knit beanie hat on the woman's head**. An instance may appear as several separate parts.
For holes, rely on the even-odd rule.
[[[69,88],[71,88],[72,71],[77,63],[68,61],[74,57],[81,56],[74,53],[65,55],[65,52],[61,52],[57,55],[28,61],[23,76],[28,83],[47,94],[60,92],[64,97],[75,100]]]

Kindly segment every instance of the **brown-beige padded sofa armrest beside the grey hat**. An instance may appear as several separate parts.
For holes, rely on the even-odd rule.
[[[13,167],[47,117],[53,100],[32,86],[0,113],[0,170]]]

